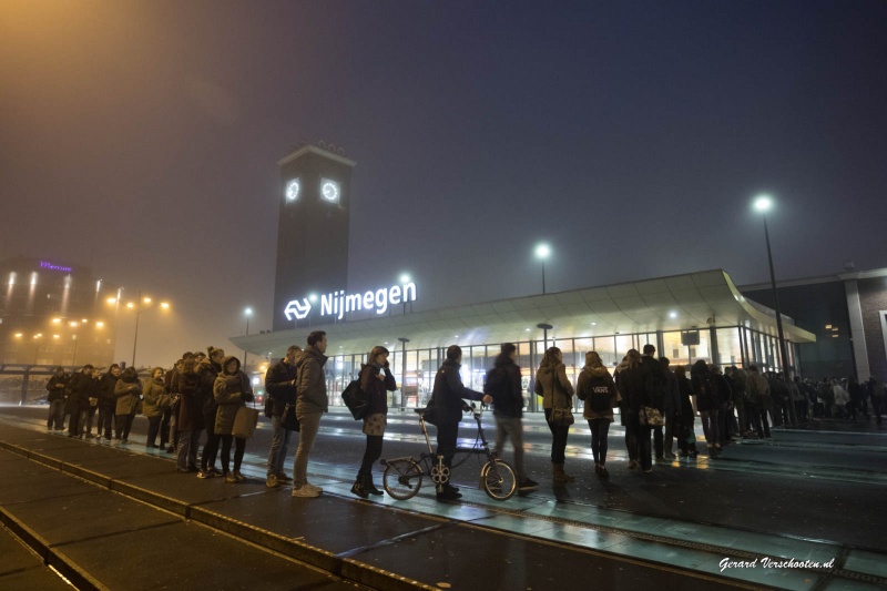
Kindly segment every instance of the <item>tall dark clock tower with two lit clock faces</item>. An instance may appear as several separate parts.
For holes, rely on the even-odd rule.
[[[288,302],[348,288],[348,206],[355,163],[344,154],[340,147],[317,142],[277,163],[281,215],[274,330],[296,326],[284,314]]]

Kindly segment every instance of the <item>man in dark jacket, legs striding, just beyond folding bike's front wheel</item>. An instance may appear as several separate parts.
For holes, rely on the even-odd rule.
[[[504,343],[496,358],[496,366],[487,373],[483,393],[492,396],[493,416],[496,417],[496,454],[501,456],[506,439],[511,439],[514,447],[514,471],[518,476],[518,488],[530,490],[539,487],[539,482],[527,477],[523,463],[523,395],[520,387],[520,367],[516,363],[518,347],[513,343]]]

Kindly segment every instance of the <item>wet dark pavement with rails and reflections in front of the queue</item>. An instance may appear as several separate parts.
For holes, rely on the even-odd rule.
[[[330,437],[354,456],[356,436]],[[265,488],[258,455],[247,455],[248,483],[200,480],[143,445],[69,439],[0,409],[0,550],[14,549],[1,554],[0,588],[54,589],[48,565],[81,589],[887,585],[881,432],[776,431],[653,475],[626,470],[613,439],[610,480],[583,472],[504,502],[467,482],[459,503],[430,488],[359,500],[335,454],[309,466],[324,495],[293,499]],[[399,451],[386,435],[389,448]]]

